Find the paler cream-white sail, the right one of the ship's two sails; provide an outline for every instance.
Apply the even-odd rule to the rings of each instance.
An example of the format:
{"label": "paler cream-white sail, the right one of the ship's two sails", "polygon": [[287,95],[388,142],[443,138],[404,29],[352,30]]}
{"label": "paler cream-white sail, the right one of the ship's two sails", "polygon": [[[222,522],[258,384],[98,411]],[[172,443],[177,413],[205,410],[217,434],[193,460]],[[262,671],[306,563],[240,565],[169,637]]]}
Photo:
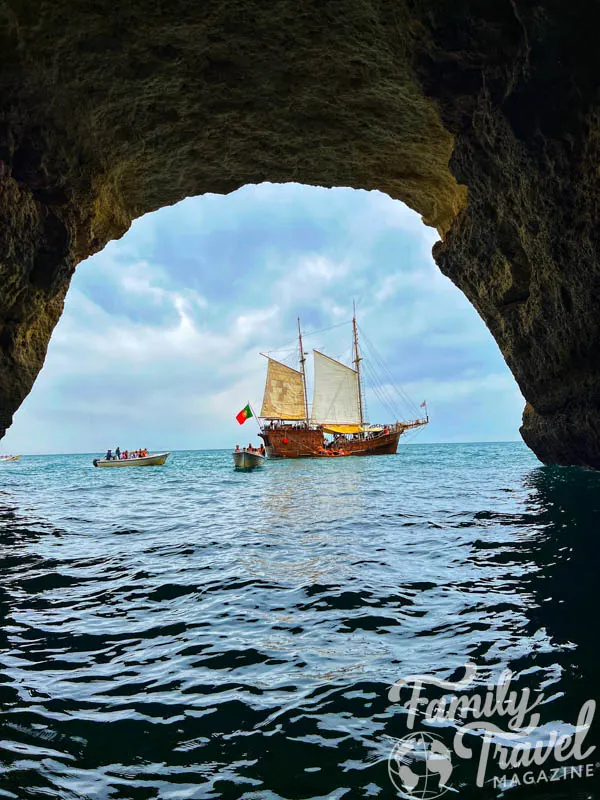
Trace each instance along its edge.
{"label": "paler cream-white sail, the right one of the ship's two sails", "polygon": [[312,422],[315,425],[360,425],[356,370],[314,350],[315,385]]}

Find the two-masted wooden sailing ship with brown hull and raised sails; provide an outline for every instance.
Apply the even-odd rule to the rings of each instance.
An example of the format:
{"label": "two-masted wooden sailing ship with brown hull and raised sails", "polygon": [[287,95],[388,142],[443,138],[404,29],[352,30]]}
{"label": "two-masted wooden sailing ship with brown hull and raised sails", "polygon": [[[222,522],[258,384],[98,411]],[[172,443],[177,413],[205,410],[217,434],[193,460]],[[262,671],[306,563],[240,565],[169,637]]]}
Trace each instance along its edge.
{"label": "two-masted wooden sailing ship with brown hull and raised sails", "polygon": [[[353,366],[313,350],[314,386],[309,413],[306,353],[298,319],[299,369],[266,355],[267,378],[258,423],[270,458],[389,455],[400,437],[429,422],[425,416],[369,424],[362,383],[356,311],[352,318]],[[264,354],[261,354],[264,355]],[[325,437],[333,437],[327,441]]]}

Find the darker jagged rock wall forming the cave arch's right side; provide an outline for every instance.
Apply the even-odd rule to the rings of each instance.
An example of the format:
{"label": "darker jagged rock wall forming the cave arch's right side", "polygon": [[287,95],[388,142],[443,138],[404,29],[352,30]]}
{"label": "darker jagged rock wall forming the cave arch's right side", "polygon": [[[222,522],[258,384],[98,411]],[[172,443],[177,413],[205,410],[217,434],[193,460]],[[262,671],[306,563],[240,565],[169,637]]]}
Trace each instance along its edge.
{"label": "darker jagged rock wall forming the cave arch's right side", "polygon": [[527,444],[599,468],[600,7],[513,0],[483,17],[468,0],[440,5],[428,4],[419,71],[469,201],[436,260],[528,401]]}

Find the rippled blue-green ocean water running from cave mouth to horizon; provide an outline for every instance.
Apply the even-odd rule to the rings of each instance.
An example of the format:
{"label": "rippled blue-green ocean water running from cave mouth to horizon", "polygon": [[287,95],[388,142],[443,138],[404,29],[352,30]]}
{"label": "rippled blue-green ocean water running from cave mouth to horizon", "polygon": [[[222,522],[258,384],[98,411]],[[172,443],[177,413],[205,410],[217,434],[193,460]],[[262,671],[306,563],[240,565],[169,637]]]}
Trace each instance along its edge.
{"label": "rippled blue-green ocean water running from cave mouth to horizon", "polygon": [[[600,474],[522,444],[250,473],[224,451],[91,458],[0,466],[0,798],[600,797],[595,719],[546,779],[490,756],[478,786],[481,727],[457,755],[468,714],[411,728],[410,692],[389,696],[472,663],[483,700],[508,669],[542,702],[496,741],[573,734],[599,694]],[[414,731],[450,752],[444,785],[423,760],[395,775]]]}

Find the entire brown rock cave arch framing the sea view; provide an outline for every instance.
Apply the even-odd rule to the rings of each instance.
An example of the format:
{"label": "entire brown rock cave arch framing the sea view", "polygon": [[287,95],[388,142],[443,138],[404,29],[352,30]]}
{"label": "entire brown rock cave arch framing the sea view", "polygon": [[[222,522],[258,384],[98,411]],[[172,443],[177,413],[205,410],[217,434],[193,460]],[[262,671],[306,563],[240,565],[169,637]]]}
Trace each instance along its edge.
{"label": "entire brown rock cave arch framing the sea view", "polygon": [[81,259],[161,205],[293,180],[377,188],[436,226],[527,398],[525,440],[600,466],[597,17],[0,0],[0,435]]}

